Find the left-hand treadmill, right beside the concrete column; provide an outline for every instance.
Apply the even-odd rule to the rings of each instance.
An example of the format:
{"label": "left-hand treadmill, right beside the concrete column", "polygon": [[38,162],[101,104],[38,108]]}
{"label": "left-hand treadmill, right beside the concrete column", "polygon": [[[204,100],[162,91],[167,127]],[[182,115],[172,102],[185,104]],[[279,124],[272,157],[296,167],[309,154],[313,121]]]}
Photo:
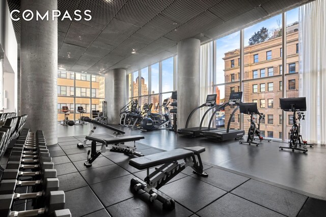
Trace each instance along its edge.
{"label": "left-hand treadmill, right beside the concrete column", "polygon": [[[211,95],[207,95],[206,98],[206,102],[204,104],[202,104],[201,106],[198,106],[197,108],[195,108],[188,116],[187,121],[185,123],[185,128],[182,129],[178,129],[178,133],[179,134],[183,134],[183,135],[187,135],[187,136],[192,136],[192,137],[198,137],[200,136],[200,133],[207,130],[208,127],[203,127],[203,122],[205,119],[206,114],[208,114],[208,112],[212,109],[214,109],[216,106],[216,94],[211,94]],[[188,128],[188,124],[189,121],[191,119],[191,117],[193,116],[193,114],[200,108],[203,107],[210,107],[209,109],[207,109],[207,111],[204,113],[201,121],[200,121],[200,125],[199,127],[194,127],[194,128]]]}

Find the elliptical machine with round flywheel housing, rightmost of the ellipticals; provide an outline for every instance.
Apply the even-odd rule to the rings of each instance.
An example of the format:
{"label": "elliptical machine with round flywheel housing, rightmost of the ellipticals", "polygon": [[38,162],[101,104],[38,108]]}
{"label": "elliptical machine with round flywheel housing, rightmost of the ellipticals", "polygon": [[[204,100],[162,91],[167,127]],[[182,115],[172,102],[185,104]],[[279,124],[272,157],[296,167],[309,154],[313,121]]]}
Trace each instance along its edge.
{"label": "elliptical machine with round flywheel housing, rightmost of the ellipticals", "polygon": [[[162,103],[162,108],[164,108],[164,114],[161,113],[151,113],[150,109],[147,111],[147,115],[141,121],[142,131],[152,131],[152,130],[166,130],[171,129],[171,116],[169,112],[168,99],[165,99]],[[158,105],[156,106],[156,110]]]}

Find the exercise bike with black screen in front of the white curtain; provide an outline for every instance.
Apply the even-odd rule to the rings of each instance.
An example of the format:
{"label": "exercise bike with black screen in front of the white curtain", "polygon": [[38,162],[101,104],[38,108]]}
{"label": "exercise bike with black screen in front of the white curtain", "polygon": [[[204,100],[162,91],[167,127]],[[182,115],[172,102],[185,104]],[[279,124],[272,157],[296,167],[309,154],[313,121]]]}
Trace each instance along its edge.
{"label": "exercise bike with black screen in front of the white curtain", "polygon": [[[302,139],[302,136],[300,135],[300,120],[305,119],[305,115],[302,111],[307,110],[306,98],[305,97],[280,98],[280,105],[281,105],[281,109],[283,109],[284,111],[293,112],[293,115],[292,115],[293,125],[290,130],[289,147],[279,146],[279,148],[281,150],[283,150],[284,148],[292,149],[292,151],[301,150],[304,153],[306,153],[308,151],[307,149],[297,147],[297,145],[299,145],[299,146],[303,145],[304,147],[306,147],[307,145],[312,147],[312,145],[313,145],[313,144],[308,144],[307,141],[304,141]],[[297,118],[296,118],[296,116],[297,116]]]}

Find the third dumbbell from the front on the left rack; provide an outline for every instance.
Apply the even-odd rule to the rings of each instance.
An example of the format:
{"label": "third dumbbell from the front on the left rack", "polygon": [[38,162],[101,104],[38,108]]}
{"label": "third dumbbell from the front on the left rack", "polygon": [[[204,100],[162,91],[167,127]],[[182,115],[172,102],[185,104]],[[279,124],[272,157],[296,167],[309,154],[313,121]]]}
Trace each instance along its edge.
{"label": "third dumbbell from the front on the left rack", "polygon": [[0,182],[0,195],[15,194],[17,187],[40,187],[39,190],[43,190],[45,195],[48,195],[50,191],[58,191],[59,179],[57,177],[43,177],[43,179],[35,181],[20,181],[16,179],[2,180]]}

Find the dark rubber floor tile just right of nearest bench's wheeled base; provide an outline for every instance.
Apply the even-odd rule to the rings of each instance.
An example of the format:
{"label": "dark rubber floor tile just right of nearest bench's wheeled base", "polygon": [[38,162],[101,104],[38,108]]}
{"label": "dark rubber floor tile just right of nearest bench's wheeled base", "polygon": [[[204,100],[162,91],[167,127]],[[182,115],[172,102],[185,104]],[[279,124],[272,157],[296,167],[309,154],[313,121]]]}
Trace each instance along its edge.
{"label": "dark rubber floor tile just right of nearest bench's wheeled base", "polygon": [[192,177],[185,177],[164,185],[159,191],[170,196],[193,212],[218,199],[227,192]]}

